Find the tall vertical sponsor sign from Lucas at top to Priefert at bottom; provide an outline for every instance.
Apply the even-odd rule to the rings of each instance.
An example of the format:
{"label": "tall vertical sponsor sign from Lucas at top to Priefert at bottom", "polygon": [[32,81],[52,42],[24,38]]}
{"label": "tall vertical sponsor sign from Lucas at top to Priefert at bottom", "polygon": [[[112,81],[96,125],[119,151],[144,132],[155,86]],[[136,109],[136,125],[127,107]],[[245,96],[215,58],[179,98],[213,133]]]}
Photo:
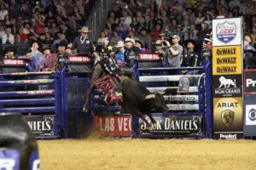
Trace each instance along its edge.
{"label": "tall vertical sponsor sign from Lucas at top to Priefert at bottom", "polygon": [[212,20],[213,131],[218,139],[238,139],[243,132],[241,20]]}

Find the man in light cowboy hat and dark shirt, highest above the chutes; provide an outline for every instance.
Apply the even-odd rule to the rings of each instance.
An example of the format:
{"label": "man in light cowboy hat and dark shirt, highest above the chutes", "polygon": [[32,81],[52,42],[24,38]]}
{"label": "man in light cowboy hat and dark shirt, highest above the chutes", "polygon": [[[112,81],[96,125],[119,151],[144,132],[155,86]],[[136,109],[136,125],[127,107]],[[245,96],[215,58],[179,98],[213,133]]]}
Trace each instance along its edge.
{"label": "man in light cowboy hat and dark shirt, highest above the chutes", "polygon": [[79,32],[81,33],[81,36],[74,39],[73,48],[77,48],[77,54],[92,54],[93,43],[88,39],[90,30],[87,26],[83,26]]}

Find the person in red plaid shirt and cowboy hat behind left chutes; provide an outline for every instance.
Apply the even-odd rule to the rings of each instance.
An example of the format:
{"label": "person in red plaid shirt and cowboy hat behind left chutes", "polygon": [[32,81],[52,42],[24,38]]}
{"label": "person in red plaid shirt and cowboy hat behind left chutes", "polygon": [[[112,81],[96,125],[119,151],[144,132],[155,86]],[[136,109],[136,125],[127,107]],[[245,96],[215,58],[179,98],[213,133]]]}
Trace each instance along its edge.
{"label": "person in red plaid shirt and cowboy hat behind left chutes", "polygon": [[42,50],[44,53],[42,71],[54,71],[56,55],[50,53],[50,48],[48,45],[44,45]]}

